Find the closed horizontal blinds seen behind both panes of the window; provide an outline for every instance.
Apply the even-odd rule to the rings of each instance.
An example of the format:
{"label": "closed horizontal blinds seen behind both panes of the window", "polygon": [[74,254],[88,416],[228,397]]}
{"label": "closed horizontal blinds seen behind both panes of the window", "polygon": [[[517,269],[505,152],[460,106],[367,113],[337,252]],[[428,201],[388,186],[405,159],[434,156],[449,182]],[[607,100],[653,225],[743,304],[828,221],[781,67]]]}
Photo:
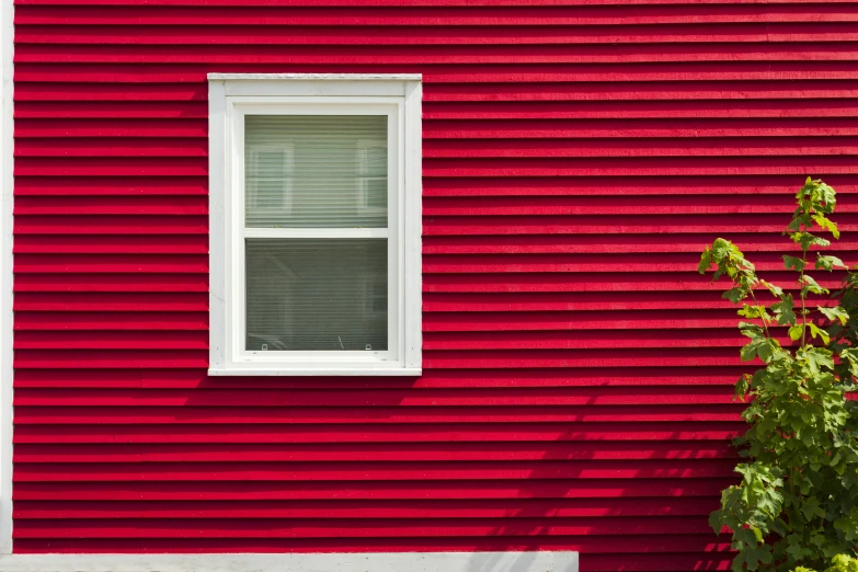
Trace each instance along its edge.
{"label": "closed horizontal blinds seen behind both panes of the window", "polygon": [[[331,238],[245,239],[245,348],[386,351],[385,115],[245,116],[245,228],[331,229]],[[334,230],[335,229],[335,230]]]}

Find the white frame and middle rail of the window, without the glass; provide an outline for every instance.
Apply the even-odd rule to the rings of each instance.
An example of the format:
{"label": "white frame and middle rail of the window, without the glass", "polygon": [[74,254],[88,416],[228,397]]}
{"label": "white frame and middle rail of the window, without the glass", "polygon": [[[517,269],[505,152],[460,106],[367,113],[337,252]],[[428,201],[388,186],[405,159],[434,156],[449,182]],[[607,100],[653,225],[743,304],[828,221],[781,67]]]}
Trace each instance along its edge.
{"label": "white frame and middle rail of the window, without the glass", "polygon": [[[209,370],[211,376],[416,376],[421,369],[419,75],[209,73]],[[387,228],[245,228],[244,116],[387,115]],[[245,350],[244,240],[386,238],[386,351]]]}

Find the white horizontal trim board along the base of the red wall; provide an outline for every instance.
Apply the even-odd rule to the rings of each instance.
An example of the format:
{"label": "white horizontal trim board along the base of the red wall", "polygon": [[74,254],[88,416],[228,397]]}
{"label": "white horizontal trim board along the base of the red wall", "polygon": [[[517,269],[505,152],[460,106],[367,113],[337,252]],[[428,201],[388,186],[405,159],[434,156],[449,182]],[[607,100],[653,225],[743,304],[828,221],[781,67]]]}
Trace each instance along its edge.
{"label": "white horizontal trim board along the base of the red wall", "polygon": [[3,572],[577,572],[577,552],[14,554]]}

